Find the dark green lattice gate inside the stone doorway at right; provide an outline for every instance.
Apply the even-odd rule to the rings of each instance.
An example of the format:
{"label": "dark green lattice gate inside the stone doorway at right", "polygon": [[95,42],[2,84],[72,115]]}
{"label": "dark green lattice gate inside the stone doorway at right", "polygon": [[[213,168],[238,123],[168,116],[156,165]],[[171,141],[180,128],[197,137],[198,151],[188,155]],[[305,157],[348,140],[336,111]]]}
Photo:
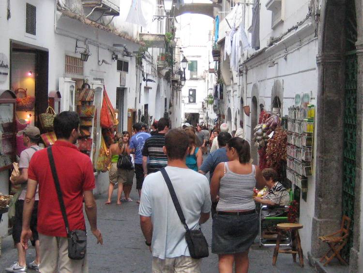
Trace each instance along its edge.
{"label": "dark green lattice gate inside the stone doorway at right", "polygon": [[343,194],[342,214],[351,220],[348,244],[342,250],[342,257],[349,261],[353,246],[356,134],[357,134],[357,75],[358,60],[355,42],[357,41],[357,22],[355,3],[349,0],[346,5],[346,56],[345,56],[345,109],[344,109],[344,150],[343,150]]}

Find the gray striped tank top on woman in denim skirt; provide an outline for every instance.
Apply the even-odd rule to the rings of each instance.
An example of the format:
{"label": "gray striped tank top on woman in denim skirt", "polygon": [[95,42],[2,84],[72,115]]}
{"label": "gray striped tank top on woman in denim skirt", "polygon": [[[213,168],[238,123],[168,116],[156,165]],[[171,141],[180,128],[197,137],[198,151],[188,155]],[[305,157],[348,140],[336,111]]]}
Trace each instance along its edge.
{"label": "gray striped tank top on woman in denim skirt", "polygon": [[252,165],[252,173],[240,175],[229,170],[225,162],[225,175],[219,184],[217,211],[256,209],[252,198],[255,186],[255,165]]}

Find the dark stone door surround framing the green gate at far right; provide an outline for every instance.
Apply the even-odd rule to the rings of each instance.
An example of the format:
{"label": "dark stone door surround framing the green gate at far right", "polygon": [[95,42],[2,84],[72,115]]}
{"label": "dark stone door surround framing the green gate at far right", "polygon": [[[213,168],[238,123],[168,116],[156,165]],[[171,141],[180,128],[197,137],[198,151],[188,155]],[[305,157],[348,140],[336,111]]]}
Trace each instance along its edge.
{"label": "dark stone door surround framing the green gate at far right", "polygon": [[[351,2],[353,1],[353,2]],[[318,96],[317,96],[317,154],[315,213],[312,226],[312,255],[321,257],[326,246],[319,243],[321,234],[340,228],[342,220],[345,62],[346,62],[346,8],[354,0],[325,0],[321,3],[321,27],[318,41]],[[350,4],[350,5],[349,5]],[[356,54],[358,75],[363,70],[362,4],[355,0],[357,25]],[[352,19],[350,17],[350,19]],[[354,19],[353,19],[354,20]],[[362,104],[363,79],[357,78],[357,129],[355,164],[354,237],[350,250],[350,272],[358,269],[360,250],[361,191],[362,191]],[[334,114],[332,114],[334,109]],[[340,118],[336,118],[336,117]],[[332,148],[333,147],[333,148]],[[334,202],[332,202],[332,196]]]}

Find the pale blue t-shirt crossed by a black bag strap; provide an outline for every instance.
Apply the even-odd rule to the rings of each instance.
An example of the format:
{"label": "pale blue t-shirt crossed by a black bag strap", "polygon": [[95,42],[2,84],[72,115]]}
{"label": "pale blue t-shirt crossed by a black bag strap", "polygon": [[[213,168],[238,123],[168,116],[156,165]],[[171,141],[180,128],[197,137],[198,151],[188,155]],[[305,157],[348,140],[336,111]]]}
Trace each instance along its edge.
{"label": "pale blue t-shirt crossed by a black bag strap", "polygon": [[[167,166],[166,172],[173,184],[189,229],[199,228],[200,213],[211,211],[208,179],[191,170]],[[139,215],[151,217],[152,256],[160,259],[190,256],[181,224],[169,190],[161,172],[145,177]]]}

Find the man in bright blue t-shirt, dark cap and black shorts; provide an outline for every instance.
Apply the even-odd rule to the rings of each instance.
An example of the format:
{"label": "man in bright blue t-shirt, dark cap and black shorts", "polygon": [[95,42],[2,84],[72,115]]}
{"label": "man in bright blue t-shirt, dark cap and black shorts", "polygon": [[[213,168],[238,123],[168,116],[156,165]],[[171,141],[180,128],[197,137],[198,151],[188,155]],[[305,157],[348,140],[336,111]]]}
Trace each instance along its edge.
{"label": "man in bright blue t-shirt, dark cap and black shorts", "polygon": [[[135,135],[130,140],[130,150],[135,153],[135,175],[136,175],[136,189],[138,195],[141,196],[142,183],[144,182],[144,171],[142,169],[142,149],[144,148],[145,141],[151,137],[151,134],[143,132],[142,124],[135,123],[132,127]],[[139,201],[137,201],[139,203]]]}

